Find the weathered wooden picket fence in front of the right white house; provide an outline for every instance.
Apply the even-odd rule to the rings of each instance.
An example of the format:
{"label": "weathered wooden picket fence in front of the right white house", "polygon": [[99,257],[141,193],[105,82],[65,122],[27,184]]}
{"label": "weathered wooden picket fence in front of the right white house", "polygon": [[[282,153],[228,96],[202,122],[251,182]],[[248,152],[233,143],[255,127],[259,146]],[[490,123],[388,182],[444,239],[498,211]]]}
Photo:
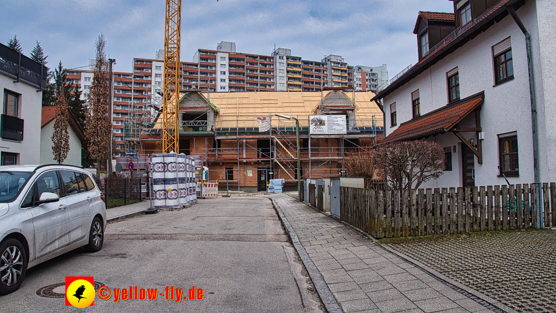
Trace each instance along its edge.
{"label": "weathered wooden picket fence in front of the right white house", "polygon": [[[537,225],[538,199],[544,225]],[[375,238],[550,227],[556,226],[556,184],[460,187],[457,192],[340,187],[340,219]]]}

